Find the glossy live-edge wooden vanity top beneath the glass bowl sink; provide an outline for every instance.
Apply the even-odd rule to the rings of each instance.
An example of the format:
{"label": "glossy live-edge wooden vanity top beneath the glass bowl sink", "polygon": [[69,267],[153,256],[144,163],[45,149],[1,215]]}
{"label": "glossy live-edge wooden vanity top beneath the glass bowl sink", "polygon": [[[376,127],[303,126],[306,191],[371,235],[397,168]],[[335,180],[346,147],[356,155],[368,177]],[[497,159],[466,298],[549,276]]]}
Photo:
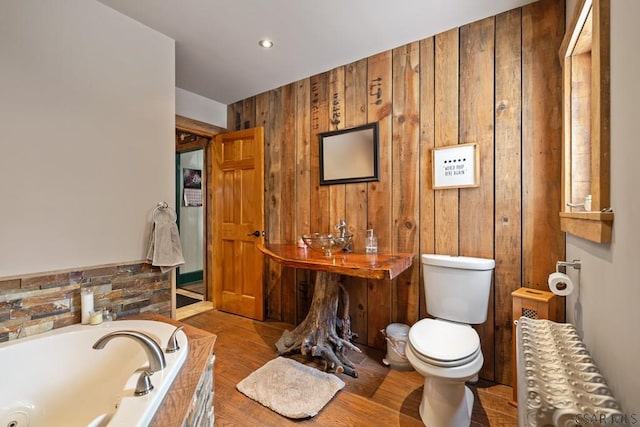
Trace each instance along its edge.
{"label": "glossy live-edge wooden vanity top beneath the glass bowl sink", "polygon": [[393,279],[411,267],[413,254],[336,252],[332,256],[294,244],[258,245],[265,255],[287,267],[327,271],[365,279]]}

